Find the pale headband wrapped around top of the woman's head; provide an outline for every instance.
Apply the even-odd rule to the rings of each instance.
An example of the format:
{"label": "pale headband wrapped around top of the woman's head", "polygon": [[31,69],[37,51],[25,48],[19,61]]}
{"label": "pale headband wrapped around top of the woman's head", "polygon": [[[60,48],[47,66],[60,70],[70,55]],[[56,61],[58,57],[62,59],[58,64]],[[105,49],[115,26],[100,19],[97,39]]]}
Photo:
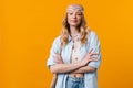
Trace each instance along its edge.
{"label": "pale headband wrapped around top of the woman's head", "polygon": [[80,6],[80,4],[71,4],[66,8],[66,12],[70,12],[70,11],[73,11],[73,10],[78,10],[82,13],[84,12],[83,7]]}

